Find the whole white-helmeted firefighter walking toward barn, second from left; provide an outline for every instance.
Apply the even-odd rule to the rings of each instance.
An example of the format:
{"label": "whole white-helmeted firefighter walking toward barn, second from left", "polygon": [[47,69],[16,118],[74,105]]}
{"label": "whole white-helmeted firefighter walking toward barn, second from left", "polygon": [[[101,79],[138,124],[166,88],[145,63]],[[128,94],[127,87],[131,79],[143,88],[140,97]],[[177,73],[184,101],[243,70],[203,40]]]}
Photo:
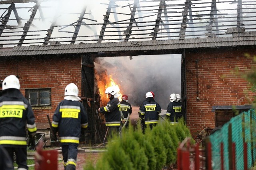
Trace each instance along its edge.
{"label": "whole white-helmeted firefighter walking toward barn, second from left", "polygon": [[79,102],[81,99],[78,97],[76,84],[68,84],[64,95],[64,100],[58,104],[53,115],[52,139],[57,141],[58,131],[64,170],[75,170],[81,128],[87,128],[88,116],[83,104]]}

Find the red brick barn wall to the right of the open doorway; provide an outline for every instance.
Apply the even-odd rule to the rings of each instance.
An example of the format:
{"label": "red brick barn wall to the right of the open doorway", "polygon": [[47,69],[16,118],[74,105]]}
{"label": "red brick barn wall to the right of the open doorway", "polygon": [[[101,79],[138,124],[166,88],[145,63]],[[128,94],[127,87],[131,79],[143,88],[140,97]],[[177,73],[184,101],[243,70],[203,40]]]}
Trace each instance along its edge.
{"label": "red brick barn wall to the right of the open doorway", "polygon": [[212,106],[251,104],[255,94],[249,90],[250,84],[234,73],[235,68],[243,74],[255,66],[245,53],[256,55],[254,49],[186,51],[187,125],[193,135],[204,127],[215,127]]}

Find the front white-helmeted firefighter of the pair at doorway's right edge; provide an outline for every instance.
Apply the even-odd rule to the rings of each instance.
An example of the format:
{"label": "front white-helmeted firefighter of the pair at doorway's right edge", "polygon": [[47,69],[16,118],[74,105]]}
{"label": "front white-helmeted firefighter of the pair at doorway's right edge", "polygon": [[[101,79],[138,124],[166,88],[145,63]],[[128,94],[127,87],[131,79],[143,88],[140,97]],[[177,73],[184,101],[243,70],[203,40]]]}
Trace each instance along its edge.
{"label": "front white-helmeted firefighter of the pair at doorway's right edge", "polygon": [[170,95],[170,103],[167,106],[166,119],[168,119],[172,125],[178,122],[178,119],[182,117],[182,105],[176,101],[176,94]]}

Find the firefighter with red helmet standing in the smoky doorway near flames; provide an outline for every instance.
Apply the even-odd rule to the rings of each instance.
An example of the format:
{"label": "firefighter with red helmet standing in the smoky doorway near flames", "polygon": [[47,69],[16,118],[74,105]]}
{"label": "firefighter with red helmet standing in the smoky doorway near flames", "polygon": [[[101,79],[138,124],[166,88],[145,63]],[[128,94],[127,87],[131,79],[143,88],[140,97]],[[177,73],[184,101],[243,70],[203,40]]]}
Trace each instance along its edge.
{"label": "firefighter with red helmet standing in the smoky doorway near flames", "polygon": [[127,120],[128,114],[132,114],[132,105],[130,103],[128,103],[128,96],[127,95],[123,95],[122,96],[122,101],[120,102],[120,107],[119,110],[122,111],[123,115],[124,115],[124,122],[128,121],[125,125],[125,127],[129,126],[129,119]]}

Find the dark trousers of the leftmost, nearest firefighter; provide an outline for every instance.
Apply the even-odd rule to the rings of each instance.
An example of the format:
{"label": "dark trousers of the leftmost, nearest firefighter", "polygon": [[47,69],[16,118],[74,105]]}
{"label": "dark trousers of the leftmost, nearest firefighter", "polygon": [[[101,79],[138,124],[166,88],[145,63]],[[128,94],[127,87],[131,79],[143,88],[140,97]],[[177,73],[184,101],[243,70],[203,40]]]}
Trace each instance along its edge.
{"label": "dark trousers of the leftmost, nearest firefighter", "polygon": [[28,170],[27,166],[27,148],[26,147],[4,147],[10,158],[13,160],[14,153],[16,155],[16,163],[18,164],[18,169]]}

